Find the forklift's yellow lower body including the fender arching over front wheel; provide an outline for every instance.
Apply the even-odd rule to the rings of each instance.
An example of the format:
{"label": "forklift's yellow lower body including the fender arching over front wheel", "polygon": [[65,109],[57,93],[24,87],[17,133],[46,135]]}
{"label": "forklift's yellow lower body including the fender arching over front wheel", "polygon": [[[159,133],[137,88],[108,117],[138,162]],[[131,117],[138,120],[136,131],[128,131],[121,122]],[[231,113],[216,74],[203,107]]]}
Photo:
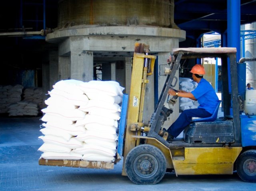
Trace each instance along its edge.
{"label": "forklift's yellow lower body including the fender arching over front wheel", "polygon": [[234,162],[242,151],[242,147],[168,148],[156,138],[132,137],[160,149],[166,168],[174,169],[176,175],[233,174]]}

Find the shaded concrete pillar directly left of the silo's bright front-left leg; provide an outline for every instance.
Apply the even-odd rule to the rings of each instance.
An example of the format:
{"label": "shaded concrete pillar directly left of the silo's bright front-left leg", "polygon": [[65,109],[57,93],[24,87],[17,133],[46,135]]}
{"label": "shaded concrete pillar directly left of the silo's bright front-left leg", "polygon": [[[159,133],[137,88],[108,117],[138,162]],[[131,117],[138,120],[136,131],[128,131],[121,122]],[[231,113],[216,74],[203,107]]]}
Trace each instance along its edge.
{"label": "shaded concrete pillar directly left of the silo's bright front-left leg", "polygon": [[70,56],[59,56],[58,78],[60,80],[71,79],[71,59]]}

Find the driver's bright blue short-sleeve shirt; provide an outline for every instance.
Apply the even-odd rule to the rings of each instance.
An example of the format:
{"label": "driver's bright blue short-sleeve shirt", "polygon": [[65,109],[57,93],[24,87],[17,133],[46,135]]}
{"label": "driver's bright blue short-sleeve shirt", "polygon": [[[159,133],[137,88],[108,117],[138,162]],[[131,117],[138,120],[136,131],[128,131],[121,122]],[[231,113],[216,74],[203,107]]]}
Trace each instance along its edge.
{"label": "driver's bright blue short-sleeve shirt", "polygon": [[219,98],[216,95],[212,85],[207,80],[202,78],[196,89],[191,93],[198,100],[198,108],[203,108],[211,114],[214,112]]}

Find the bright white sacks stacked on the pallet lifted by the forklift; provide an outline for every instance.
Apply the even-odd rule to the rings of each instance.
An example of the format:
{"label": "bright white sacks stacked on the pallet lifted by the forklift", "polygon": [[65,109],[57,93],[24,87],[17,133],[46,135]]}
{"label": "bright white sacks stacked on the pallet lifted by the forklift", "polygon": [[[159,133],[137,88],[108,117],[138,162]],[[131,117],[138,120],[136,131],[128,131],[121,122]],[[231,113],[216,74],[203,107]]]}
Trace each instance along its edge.
{"label": "bright white sacks stacked on the pallet lifted by the forklift", "polygon": [[123,87],[114,81],[59,81],[42,117],[44,159],[113,161]]}

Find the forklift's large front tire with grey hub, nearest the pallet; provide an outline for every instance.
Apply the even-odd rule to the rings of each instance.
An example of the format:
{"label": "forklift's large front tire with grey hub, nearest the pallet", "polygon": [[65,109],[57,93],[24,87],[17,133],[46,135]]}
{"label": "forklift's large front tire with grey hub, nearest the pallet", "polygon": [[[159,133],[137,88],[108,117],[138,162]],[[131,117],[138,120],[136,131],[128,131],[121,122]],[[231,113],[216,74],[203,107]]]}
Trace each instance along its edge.
{"label": "forklift's large front tire with grey hub, nearest the pallet", "polygon": [[125,170],[129,179],[135,184],[156,184],[164,177],[166,159],[157,147],[142,144],[128,153]]}

